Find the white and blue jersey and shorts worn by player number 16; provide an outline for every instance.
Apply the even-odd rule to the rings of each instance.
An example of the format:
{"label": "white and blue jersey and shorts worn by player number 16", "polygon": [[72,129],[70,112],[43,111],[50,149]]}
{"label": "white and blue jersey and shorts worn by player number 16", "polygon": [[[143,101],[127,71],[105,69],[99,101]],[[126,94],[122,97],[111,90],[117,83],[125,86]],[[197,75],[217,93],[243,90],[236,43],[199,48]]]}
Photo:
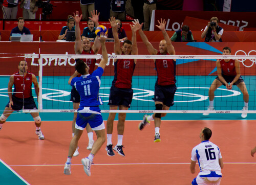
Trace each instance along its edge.
{"label": "white and blue jersey and shorts worn by player number 16", "polygon": [[194,147],[191,153],[191,160],[198,160],[200,172],[192,181],[192,184],[220,184],[222,178],[219,165],[220,158],[222,156],[219,147],[208,140]]}

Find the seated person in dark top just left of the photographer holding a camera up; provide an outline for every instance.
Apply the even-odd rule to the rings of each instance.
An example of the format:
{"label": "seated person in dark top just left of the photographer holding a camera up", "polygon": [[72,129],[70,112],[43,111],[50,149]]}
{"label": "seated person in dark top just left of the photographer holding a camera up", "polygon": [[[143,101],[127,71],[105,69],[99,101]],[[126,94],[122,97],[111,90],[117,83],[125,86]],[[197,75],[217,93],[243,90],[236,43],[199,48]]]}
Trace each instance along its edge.
{"label": "seated person in dark top just left of the photographer holding a camera up", "polygon": [[172,38],[170,38],[172,42],[187,42],[194,40],[192,32],[189,31],[189,27],[184,25],[181,30],[178,30],[174,33]]}

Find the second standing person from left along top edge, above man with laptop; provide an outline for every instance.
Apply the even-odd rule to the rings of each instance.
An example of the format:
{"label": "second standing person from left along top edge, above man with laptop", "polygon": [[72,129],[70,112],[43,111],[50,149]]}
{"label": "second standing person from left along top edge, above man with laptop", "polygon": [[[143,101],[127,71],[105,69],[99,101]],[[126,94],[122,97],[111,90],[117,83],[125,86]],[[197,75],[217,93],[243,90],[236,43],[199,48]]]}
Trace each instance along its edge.
{"label": "second standing person from left along top edge, above man with laptop", "polygon": [[22,0],[20,8],[23,8],[23,17],[25,19],[35,19],[35,13],[38,7],[35,6],[36,0]]}

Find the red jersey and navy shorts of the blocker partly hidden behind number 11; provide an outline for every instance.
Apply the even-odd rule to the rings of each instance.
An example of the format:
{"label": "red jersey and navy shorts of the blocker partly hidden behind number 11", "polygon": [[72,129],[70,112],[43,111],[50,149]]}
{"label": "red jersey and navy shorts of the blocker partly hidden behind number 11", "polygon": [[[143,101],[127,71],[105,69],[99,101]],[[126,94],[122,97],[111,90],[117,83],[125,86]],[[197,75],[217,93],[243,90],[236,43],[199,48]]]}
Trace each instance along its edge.
{"label": "red jersey and navy shorts of the blocker partly hidden behind number 11", "polygon": [[[92,49],[90,49],[89,52],[85,52],[83,50],[81,55],[94,55],[94,51]],[[92,74],[94,72],[96,59],[94,59],[94,58],[84,58],[84,59],[81,59],[81,60],[83,62],[86,62],[86,64],[89,66],[89,74]],[[73,86],[71,88],[70,101],[72,101],[74,103],[79,103],[80,102],[80,95],[77,92],[77,90],[75,89],[75,87],[73,87]]]}

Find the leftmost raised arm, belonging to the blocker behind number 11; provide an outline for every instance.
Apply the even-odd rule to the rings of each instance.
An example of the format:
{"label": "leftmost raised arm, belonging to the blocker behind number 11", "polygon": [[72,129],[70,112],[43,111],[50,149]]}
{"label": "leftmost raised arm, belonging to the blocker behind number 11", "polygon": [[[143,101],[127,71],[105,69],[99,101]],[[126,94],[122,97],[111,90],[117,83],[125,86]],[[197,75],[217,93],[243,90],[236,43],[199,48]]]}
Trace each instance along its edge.
{"label": "leftmost raised arm, belonging to the blocker behind number 11", "polygon": [[74,16],[72,16],[75,21],[76,21],[76,26],[75,26],[75,35],[76,35],[76,41],[75,41],[75,53],[76,54],[81,54],[82,53],[82,41],[81,41],[81,31],[80,31],[80,20],[82,18],[82,14],[79,17],[79,12],[76,11],[76,14],[74,13]]}

